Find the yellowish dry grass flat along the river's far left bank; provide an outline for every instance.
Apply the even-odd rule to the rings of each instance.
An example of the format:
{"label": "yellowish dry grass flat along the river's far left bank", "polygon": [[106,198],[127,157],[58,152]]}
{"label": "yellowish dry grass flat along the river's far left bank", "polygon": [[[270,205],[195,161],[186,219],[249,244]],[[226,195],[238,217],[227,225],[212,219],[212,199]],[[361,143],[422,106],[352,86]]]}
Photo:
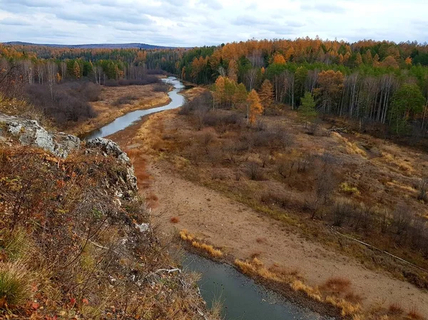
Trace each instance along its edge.
{"label": "yellowish dry grass flat along the river's far left bank", "polygon": [[[68,133],[73,135],[88,133],[111,123],[114,119],[133,110],[156,108],[170,101],[167,93],[156,92],[153,90],[153,87],[154,85],[152,84],[146,86],[103,87],[101,99],[91,103],[98,113],[96,118],[88,119],[83,123],[73,126],[73,128],[68,130]],[[127,96],[132,96],[135,99],[130,104],[114,105],[118,98]]]}

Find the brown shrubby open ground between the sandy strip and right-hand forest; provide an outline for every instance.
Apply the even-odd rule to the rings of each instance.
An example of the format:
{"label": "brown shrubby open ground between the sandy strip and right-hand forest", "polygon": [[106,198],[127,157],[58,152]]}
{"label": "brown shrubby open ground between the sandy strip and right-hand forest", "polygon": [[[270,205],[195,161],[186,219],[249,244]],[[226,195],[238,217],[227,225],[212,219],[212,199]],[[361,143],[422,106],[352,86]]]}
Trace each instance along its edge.
{"label": "brown shrubby open ground between the sandy strip and right-hand forest", "polygon": [[243,110],[213,110],[208,91],[156,128],[149,146],[180,175],[427,289],[426,153],[305,128],[293,110],[248,125]]}

